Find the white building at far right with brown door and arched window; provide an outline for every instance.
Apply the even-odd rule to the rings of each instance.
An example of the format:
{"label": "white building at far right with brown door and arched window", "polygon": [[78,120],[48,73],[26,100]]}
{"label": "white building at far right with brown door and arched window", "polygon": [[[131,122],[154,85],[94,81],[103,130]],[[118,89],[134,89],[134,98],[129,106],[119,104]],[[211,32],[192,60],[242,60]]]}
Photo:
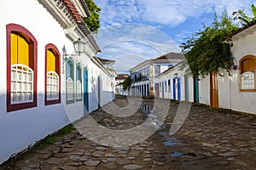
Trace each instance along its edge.
{"label": "white building at far right with brown door and arched window", "polygon": [[256,114],[256,22],[229,37],[235,66],[201,79],[200,102],[213,107]]}

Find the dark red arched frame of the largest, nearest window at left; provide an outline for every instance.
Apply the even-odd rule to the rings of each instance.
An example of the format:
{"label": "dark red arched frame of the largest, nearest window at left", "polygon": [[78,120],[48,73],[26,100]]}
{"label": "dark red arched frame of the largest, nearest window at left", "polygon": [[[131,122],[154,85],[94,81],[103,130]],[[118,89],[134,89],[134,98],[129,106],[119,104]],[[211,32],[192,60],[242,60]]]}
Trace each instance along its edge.
{"label": "dark red arched frame of the largest, nearest window at left", "polygon": [[[16,32],[26,38],[29,43],[29,65],[34,71],[33,76],[33,101],[11,104],[11,33]],[[25,27],[17,24],[9,24],[6,26],[6,48],[7,48],[7,111],[18,111],[22,109],[36,107],[38,105],[38,41]]]}

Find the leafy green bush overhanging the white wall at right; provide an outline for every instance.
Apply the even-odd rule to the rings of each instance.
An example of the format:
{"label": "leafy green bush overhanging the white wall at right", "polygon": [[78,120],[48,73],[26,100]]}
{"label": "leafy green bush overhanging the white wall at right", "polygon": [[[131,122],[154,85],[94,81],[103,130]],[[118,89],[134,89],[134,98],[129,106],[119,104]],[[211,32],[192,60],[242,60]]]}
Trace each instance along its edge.
{"label": "leafy green bush overhanging the white wall at right", "polygon": [[215,14],[212,24],[203,26],[204,31],[195,32],[180,46],[187,60],[183,68],[189,68],[193,76],[207,75],[212,71],[218,71],[218,68],[230,71],[233,58],[230,44],[224,41],[238,27],[226,12],[221,15],[220,20]]}

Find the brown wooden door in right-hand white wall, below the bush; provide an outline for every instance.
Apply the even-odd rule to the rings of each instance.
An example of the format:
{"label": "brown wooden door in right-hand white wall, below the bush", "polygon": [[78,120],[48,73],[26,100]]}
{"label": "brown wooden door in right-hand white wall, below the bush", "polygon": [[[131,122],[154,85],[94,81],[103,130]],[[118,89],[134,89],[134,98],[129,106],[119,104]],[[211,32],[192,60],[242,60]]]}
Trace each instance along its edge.
{"label": "brown wooden door in right-hand white wall, below the bush", "polygon": [[210,105],[218,107],[218,71],[210,74]]}

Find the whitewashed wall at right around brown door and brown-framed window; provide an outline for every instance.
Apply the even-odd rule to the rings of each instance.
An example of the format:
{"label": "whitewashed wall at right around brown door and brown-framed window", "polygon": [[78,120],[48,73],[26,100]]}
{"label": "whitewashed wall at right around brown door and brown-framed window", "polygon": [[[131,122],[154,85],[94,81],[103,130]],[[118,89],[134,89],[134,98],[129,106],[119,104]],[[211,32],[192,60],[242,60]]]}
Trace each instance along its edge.
{"label": "whitewashed wall at right around brown door and brown-framed window", "polygon": [[[249,54],[256,55],[255,39],[256,32],[253,32],[253,34],[233,41],[231,52],[238,69],[230,71],[230,76],[226,71],[220,71],[224,77],[218,76],[219,107],[256,114],[256,93],[239,92],[239,60]],[[210,105],[209,76],[203,78],[200,83],[200,103]]]}

